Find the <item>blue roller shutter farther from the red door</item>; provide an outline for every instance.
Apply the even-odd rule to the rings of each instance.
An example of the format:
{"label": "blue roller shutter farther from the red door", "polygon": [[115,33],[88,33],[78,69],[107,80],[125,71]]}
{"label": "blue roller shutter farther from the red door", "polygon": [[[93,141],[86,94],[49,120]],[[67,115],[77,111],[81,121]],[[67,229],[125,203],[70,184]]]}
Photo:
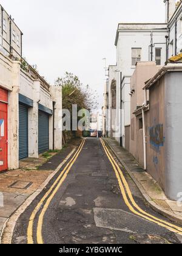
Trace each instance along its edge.
{"label": "blue roller shutter farther from the red door", "polygon": [[39,110],[39,154],[49,150],[49,115]]}

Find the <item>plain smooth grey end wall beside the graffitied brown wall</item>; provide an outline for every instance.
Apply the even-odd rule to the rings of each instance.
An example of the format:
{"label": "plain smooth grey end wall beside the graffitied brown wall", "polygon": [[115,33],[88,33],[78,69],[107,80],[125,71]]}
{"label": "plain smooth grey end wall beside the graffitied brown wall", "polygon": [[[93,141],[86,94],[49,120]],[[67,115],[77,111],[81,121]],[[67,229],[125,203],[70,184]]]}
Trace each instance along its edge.
{"label": "plain smooth grey end wall beside the graffitied brown wall", "polygon": [[166,194],[172,200],[180,199],[182,192],[182,72],[165,77],[165,162]]}

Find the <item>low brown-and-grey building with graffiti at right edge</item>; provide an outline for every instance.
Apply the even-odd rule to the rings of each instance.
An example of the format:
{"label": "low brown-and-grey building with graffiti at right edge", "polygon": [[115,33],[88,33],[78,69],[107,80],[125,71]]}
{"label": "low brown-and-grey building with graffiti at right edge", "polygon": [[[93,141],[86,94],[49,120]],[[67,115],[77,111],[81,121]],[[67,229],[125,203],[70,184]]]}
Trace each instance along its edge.
{"label": "low brown-and-grey building with graffiti at right edge", "polygon": [[181,79],[181,63],[167,64],[144,87],[149,91],[144,112],[147,171],[172,200],[179,199],[182,184]]}

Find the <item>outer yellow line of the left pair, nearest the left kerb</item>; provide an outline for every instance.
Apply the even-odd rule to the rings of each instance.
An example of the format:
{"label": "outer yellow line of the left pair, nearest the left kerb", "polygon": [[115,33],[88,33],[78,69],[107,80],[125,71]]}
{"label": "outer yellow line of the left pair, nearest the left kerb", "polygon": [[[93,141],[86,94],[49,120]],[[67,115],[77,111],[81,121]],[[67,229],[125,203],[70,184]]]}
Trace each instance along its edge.
{"label": "outer yellow line of the left pair, nearest the left kerb", "polygon": [[[52,187],[50,187],[50,189],[47,191],[47,193],[45,193],[45,195],[42,197],[41,201],[39,201],[38,205],[36,205],[35,209],[33,210],[32,215],[30,216],[30,219],[29,219],[29,225],[28,225],[28,229],[27,229],[27,243],[28,244],[33,244],[33,224],[34,224],[34,219],[35,219],[36,214],[38,213],[38,211],[41,208],[42,204],[44,204],[45,199],[47,199],[49,194],[52,192],[53,188],[56,186],[56,184],[59,182],[59,180],[63,176],[63,174],[66,171],[66,169],[69,166],[69,164],[76,157],[76,154],[77,154],[77,152],[79,152],[79,149],[81,148],[81,146],[83,146],[84,141],[85,141],[85,139],[81,142],[81,144],[80,144],[78,150],[76,151],[75,155],[72,157],[72,159],[69,161],[69,163],[67,163],[66,167],[61,172],[61,174],[59,174],[58,178],[55,180],[55,182],[53,183]],[[70,152],[70,154],[62,162],[62,165],[64,165],[64,163],[66,163],[67,160],[69,160],[69,158],[73,155],[74,152],[75,151]]]}

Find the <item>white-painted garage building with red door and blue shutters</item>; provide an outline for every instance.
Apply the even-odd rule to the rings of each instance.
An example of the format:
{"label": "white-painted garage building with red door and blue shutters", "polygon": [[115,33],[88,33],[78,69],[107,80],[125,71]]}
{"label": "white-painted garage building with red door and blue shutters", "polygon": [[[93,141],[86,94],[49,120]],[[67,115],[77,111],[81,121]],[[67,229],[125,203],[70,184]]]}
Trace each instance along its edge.
{"label": "white-painted garage building with red door and blue shutters", "polygon": [[[6,24],[3,37],[11,38],[14,28],[18,47],[21,31],[9,24],[10,16],[2,9],[1,18]],[[0,171],[18,168],[22,158],[62,148],[61,88],[51,87],[32,66],[23,65],[21,44],[14,44],[11,51],[4,43],[0,49]]]}

